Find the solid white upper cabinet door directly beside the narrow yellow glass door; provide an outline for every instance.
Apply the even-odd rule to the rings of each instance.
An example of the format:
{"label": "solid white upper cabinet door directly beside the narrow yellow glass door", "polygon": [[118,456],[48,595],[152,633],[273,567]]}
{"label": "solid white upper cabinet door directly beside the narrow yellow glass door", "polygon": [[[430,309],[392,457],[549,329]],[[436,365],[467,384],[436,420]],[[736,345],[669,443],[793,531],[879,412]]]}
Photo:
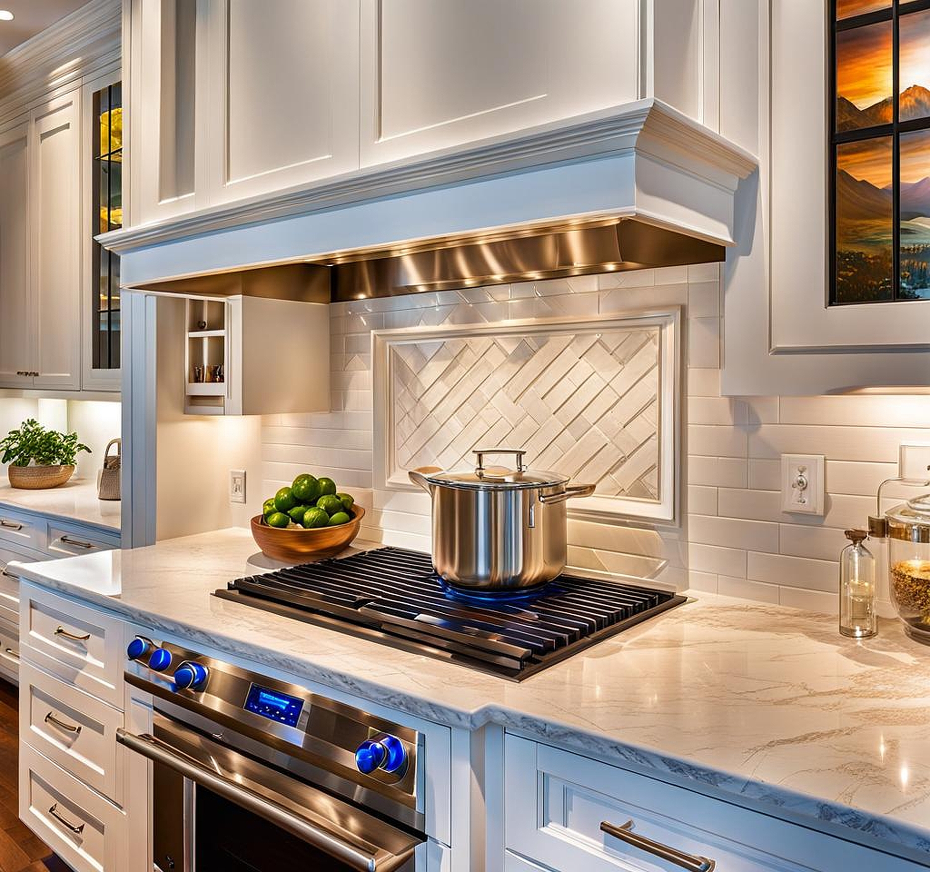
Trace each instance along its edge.
{"label": "solid white upper cabinet door directly beside the narrow yellow glass door", "polygon": [[80,90],[32,113],[33,313],[37,388],[81,386]]}

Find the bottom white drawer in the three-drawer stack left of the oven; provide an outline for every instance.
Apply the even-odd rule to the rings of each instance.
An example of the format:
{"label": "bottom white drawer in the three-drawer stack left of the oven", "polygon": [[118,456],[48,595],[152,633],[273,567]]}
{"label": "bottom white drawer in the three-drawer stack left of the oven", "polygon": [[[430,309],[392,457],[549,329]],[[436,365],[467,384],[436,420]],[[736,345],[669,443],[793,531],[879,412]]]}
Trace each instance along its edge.
{"label": "bottom white drawer in the three-drawer stack left of the oven", "polygon": [[126,868],[126,817],[113,803],[20,744],[20,819],[74,872]]}

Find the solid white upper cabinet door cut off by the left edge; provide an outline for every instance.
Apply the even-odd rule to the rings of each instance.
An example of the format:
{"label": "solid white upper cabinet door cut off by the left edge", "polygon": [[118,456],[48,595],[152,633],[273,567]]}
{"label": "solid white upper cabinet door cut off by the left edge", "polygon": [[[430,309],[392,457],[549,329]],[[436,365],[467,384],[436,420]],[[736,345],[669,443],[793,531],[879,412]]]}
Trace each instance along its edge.
{"label": "solid white upper cabinet door cut off by the left edge", "polygon": [[0,385],[31,387],[29,125],[0,133]]}

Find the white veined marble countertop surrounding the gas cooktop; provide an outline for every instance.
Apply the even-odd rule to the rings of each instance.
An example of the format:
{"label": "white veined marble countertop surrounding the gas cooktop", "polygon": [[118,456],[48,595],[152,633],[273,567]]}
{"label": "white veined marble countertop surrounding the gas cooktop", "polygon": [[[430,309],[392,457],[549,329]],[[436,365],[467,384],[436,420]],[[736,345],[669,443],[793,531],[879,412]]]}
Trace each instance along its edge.
{"label": "white veined marble countertop surrounding the gas cooktop", "polygon": [[220,530],[17,571],[422,718],[498,722],[857,840],[930,852],[930,649],[897,622],[856,642],[834,618],[700,594],[517,684],[210,597],[256,571],[246,564],[255,551],[247,530]]}

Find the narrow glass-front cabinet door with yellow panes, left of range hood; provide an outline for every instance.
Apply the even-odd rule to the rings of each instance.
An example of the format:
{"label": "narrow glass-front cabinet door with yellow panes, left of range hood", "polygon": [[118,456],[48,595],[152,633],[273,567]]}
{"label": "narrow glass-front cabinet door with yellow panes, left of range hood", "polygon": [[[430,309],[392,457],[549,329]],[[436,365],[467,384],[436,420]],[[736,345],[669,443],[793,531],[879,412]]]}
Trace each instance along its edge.
{"label": "narrow glass-front cabinet door with yellow panes, left of range hood", "polygon": [[123,226],[123,89],[119,72],[85,87],[85,390],[120,388],[119,256],[96,236]]}

